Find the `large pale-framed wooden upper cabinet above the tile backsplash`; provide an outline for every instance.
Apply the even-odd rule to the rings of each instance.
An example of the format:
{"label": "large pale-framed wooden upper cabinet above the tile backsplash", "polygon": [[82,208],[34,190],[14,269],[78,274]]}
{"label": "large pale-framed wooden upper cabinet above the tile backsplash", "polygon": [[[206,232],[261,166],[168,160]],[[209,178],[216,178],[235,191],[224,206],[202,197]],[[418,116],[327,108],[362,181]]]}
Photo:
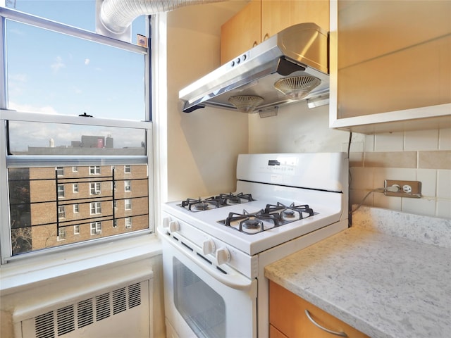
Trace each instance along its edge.
{"label": "large pale-framed wooden upper cabinet above the tile backsplash", "polygon": [[332,124],[387,123],[367,128],[381,132],[451,125],[451,1],[339,0],[331,6]]}

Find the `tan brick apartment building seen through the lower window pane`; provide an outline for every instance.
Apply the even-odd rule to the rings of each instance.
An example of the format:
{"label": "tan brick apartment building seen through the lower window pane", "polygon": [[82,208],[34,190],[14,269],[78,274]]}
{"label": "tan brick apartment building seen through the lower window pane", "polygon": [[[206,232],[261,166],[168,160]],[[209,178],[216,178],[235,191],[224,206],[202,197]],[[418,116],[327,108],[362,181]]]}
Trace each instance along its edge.
{"label": "tan brick apartment building seen through the lower window pane", "polygon": [[149,227],[147,165],[13,168],[9,176],[13,254]]}

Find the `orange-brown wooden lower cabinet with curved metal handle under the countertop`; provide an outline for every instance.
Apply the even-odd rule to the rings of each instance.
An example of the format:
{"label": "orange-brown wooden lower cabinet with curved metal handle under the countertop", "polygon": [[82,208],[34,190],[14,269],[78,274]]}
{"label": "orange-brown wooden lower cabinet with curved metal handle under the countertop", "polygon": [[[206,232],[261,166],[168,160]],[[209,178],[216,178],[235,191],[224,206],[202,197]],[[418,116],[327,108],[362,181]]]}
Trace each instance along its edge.
{"label": "orange-brown wooden lower cabinet with curved metal handle under the countertop", "polygon": [[349,338],[369,338],[338,318],[281,287],[269,283],[270,338],[331,338],[339,337],[322,330],[307,318],[306,310],[317,324],[333,332],[345,332]]}

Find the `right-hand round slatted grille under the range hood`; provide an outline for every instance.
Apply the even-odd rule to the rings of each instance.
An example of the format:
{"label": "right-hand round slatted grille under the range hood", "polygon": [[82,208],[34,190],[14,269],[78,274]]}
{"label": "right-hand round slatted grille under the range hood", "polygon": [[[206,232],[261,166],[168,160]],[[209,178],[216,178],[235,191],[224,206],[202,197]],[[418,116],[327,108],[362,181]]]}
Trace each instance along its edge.
{"label": "right-hand round slatted grille under the range hood", "polygon": [[318,87],[321,83],[318,77],[314,76],[292,76],[285,77],[274,83],[274,88],[282,92],[290,99],[299,100]]}

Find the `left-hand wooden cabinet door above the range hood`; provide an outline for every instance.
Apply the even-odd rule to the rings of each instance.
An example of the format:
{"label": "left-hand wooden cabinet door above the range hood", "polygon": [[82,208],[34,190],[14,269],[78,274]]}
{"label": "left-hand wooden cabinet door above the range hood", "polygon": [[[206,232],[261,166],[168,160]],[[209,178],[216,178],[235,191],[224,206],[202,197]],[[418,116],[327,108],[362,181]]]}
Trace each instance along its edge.
{"label": "left-hand wooden cabinet door above the range hood", "polygon": [[260,43],[260,17],[260,0],[252,0],[221,26],[221,65]]}

